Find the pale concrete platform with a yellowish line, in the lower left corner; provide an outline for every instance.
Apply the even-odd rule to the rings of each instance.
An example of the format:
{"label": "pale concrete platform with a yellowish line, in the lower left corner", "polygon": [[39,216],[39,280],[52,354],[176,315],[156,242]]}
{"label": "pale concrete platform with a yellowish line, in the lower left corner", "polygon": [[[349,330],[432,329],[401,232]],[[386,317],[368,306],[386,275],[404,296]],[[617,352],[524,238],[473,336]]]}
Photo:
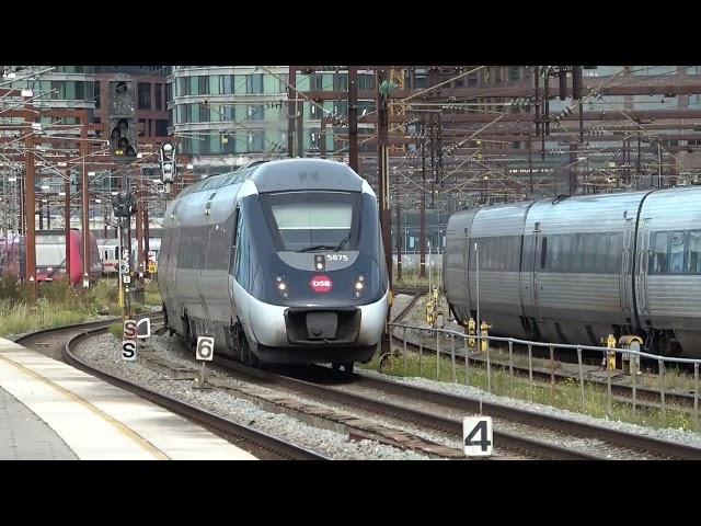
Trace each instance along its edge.
{"label": "pale concrete platform with a yellowish line, in the lower left corner", "polygon": [[0,339],[0,459],[255,459],[163,408]]}

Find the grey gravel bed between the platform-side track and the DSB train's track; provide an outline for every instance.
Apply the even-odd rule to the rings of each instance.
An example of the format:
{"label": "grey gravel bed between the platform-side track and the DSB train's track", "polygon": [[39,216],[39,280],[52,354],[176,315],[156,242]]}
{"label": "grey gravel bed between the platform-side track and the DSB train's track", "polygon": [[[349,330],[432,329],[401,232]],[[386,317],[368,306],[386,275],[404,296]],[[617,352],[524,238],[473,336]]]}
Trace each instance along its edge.
{"label": "grey gravel bed between the platform-side track and the DSB train's track", "polygon": [[[151,343],[152,350],[158,355],[192,367],[193,362],[182,357],[174,348],[176,347],[174,339],[154,336],[151,339]],[[374,441],[352,442],[345,434],[314,427],[285,414],[263,411],[254,403],[237,398],[225,390],[202,391],[193,389],[195,385],[193,381],[172,380],[145,367],[139,361],[124,362],[120,357],[118,341],[111,334],[91,339],[89,347],[87,345],[80,346],[79,354],[108,374],[148,386],[158,392],[203,407],[237,423],[285,438],[334,459],[423,460],[432,458]],[[222,375],[216,376],[223,377]]]}

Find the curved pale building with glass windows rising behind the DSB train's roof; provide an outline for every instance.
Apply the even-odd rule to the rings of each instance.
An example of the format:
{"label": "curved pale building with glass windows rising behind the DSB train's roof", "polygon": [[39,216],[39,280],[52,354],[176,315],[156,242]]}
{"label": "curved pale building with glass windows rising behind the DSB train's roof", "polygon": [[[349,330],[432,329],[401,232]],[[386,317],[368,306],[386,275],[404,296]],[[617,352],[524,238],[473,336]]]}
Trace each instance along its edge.
{"label": "curved pale building with glass windows rising behind the DSB train's roof", "polygon": [[[288,66],[173,66],[169,77],[171,127],[181,139],[181,152],[198,165],[238,165],[260,158],[287,156]],[[297,73],[296,88],[306,91],[346,91],[346,71]],[[374,72],[358,75],[358,90],[375,89]],[[375,108],[359,101],[359,113]],[[302,149],[319,153],[321,140],[335,148],[331,126],[324,139],[321,117],[347,115],[345,101],[324,101],[321,107],[302,104]],[[214,173],[214,172],[212,172]]]}

